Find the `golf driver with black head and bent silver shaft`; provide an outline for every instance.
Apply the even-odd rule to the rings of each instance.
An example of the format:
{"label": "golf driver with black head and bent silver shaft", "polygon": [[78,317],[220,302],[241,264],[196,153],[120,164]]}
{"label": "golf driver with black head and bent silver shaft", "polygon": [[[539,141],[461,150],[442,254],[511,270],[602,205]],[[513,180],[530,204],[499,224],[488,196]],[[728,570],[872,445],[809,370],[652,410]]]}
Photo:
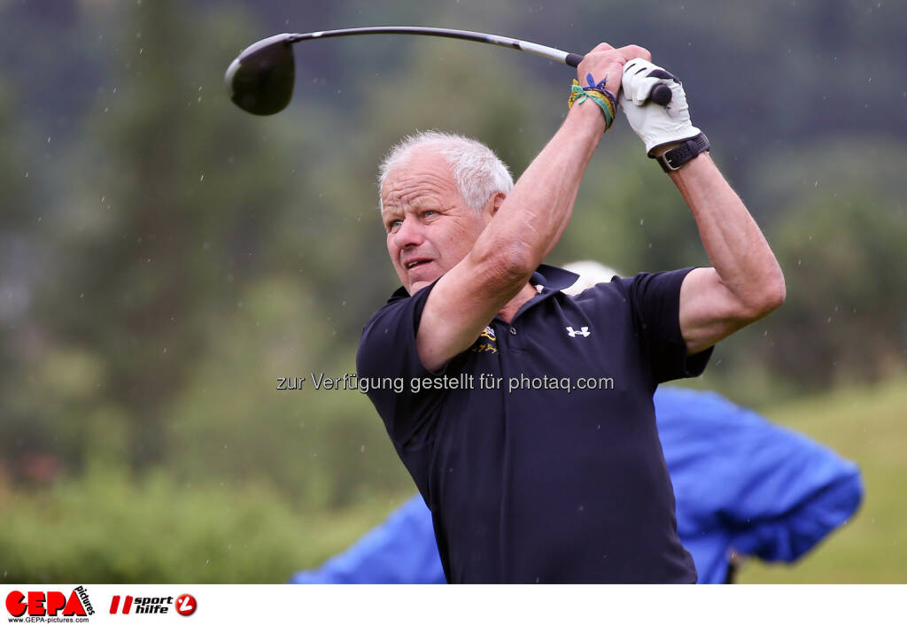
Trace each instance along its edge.
{"label": "golf driver with black head and bent silver shaft", "polygon": [[[224,80],[227,83],[230,100],[243,111],[256,115],[273,115],[283,111],[293,97],[293,83],[296,76],[292,44],[309,39],[342,37],[351,34],[427,34],[435,37],[477,41],[482,44],[502,45],[522,50],[522,52],[538,54],[551,61],[567,63],[571,67],[576,67],[582,61],[582,54],[564,52],[547,45],[502,37],[499,34],[473,33],[473,31],[446,28],[367,26],[315,33],[284,33],[275,34],[249,45],[233,60],[233,63],[229,64]],[[666,84],[657,84],[652,89],[649,100],[665,106],[671,100],[670,87]]]}

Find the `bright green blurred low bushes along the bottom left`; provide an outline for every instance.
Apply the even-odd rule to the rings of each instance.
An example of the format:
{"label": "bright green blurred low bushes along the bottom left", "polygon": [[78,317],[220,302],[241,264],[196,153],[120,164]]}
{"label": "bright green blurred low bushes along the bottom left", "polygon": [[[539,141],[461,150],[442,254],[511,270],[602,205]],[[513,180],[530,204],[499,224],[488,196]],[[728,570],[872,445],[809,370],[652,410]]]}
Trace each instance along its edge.
{"label": "bright green blurred low bushes along the bottom left", "polygon": [[266,482],[90,472],[46,492],[0,493],[0,574],[32,584],[281,583],[346,548],[394,503],[327,516],[298,512]]}

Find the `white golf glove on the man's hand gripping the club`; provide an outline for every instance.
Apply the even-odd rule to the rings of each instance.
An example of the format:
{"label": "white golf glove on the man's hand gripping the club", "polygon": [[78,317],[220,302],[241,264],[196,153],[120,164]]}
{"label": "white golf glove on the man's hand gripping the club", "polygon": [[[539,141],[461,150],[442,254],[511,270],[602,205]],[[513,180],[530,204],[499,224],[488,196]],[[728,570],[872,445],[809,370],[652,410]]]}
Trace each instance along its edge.
{"label": "white golf glove on the man's hand gripping the club", "polygon": [[[649,102],[649,94],[657,84],[667,84],[671,89],[667,106]],[[618,102],[649,154],[659,145],[692,139],[699,134],[699,129],[690,122],[687,95],[680,81],[644,59],[630,59],[624,65]]]}

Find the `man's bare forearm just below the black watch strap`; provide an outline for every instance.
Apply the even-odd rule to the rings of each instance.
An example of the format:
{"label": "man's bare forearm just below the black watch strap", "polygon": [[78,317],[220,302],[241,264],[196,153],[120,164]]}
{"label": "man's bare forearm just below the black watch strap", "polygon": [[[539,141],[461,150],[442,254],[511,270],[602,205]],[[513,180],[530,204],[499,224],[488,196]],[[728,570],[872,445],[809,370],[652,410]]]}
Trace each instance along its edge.
{"label": "man's bare forearm just below the black watch strap", "polygon": [[784,275],[756,221],[707,152],[670,178],[696,219],[699,237],[722,283],[754,316],[785,297]]}

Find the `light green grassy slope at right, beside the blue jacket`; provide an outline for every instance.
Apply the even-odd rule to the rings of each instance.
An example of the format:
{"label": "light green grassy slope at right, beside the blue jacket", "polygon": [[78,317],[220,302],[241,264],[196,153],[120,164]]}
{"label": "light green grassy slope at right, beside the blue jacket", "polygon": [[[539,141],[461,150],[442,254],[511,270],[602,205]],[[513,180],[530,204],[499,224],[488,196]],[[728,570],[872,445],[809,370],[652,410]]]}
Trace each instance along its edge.
{"label": "light green grassy slope at right, beside the blue jacket", "polygon": [[865,495],[844,528],[794,565],[747,562],[744,583],[907,582],[907,379],[767,410],[859,464]]}

